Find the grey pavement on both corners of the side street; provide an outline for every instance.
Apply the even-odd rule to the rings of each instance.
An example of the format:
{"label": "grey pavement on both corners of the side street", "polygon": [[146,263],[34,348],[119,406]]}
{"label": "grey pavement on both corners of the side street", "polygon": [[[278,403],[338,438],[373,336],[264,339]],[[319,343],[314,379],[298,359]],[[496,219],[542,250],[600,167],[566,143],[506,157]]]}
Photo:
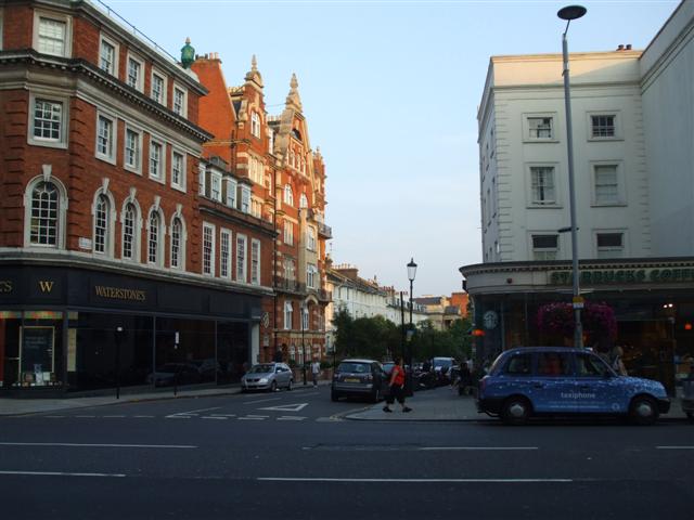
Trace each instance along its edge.
{"label": "grey pavement on both corners of the side street", "polygon": [[[330,381],[320,381],[321,386],[330,385]],[[296,386],[297,389],[301,385]],[[195,399],[214,395],[232,395],[241,393],[241,387],[215,387],[215,388],[180,388],[176,395],[172,389],[166,391],[143,391],[139,393],[125,393],[116,399],[112,395],[75,396],[66,399],[17,399],[0,398],[0,417],[30,414],[51,413],[56,411],[76,410],[92,406],[107,406],[112,404],[134,403],[142,401],[160,401],[171,399]],[[407,399],[407,405],[412,408],[410,413],[403,413],[401,406],[395,403],[390,406],[391,414],[383,412],[384,403],[374,404],[360,410],[357,413],[345,415],[351,420],[386,420],[386,421],[465,421],[465,420],[497,420],[486,414],[478,414],[475,407],[475,399],[471,395],[458,395],[458,391],[450,387],[441,387],[434,390],[415,392]],[[668,414],[660,415],[660,420],[686,420],[682,412],[681,398],[672,398],[672,404]]]}

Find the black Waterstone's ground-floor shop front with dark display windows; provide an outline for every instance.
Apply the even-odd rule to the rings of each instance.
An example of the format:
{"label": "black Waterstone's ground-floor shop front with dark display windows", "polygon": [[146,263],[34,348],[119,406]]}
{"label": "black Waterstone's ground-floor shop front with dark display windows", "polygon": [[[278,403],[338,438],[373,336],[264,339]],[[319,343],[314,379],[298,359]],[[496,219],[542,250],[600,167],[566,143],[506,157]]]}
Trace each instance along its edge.
{"label": "black Waterstone's ground-floor shop front with dark display windows", "polygon": [[235,382],[257,356],[260,318],[256,295],[3,266],[0,394]]}

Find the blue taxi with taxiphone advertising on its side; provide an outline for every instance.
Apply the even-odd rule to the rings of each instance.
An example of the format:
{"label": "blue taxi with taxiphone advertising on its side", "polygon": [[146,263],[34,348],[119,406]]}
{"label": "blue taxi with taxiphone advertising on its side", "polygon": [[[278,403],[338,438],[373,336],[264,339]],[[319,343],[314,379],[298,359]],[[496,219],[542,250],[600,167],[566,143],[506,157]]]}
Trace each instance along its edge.
{"label": "blue taxi with taxiphone advertising on its side", "polygon": [[617,375],[588,349],[526,347],[497,358],[479,381],[477,410],[520,424],[541,415],[617,415],[647,425],[667,413],[665,387]]}

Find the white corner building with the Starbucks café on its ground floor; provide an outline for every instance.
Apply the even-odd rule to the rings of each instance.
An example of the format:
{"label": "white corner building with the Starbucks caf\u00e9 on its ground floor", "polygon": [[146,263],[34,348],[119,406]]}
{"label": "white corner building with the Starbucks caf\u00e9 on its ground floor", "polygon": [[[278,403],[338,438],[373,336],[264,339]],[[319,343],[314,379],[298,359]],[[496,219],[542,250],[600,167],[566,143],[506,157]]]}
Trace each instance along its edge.
{"label": "white corner building with the Starbucks caf\u00e9 on its ground floor", "polygon": [[[693,38],[686,0],[645,51],[569,61],[581,291],[614,310],[630,373],[670,389],[694,354]],[[561,54],[489,63],[478,112],[484,262],[460,270],[480,358],[557,341],[538,329],[538,309],[570,301],[562,69]]]}

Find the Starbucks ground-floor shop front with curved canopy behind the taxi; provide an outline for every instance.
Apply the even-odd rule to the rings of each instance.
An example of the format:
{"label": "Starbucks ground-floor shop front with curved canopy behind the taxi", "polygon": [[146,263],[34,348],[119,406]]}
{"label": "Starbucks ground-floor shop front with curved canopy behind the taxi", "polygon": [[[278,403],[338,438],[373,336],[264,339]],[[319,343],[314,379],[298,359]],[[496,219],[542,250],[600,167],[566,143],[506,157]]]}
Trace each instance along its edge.
{"label": "Starbucks ground-floor shop front with curved canopy behind the taxi", "polygon": [[[661,381],[670,392],[694,363],[694,258],[581,261],[586,301],[607,303],[617,318],[614,342],[630,375]],[[571,301],[570,262],[503,262],[460,269],[474,307],[476,359],[519,346],[562,344],[542,334],[538,309]],[[595,338],[586,335],[591,347]]]}

